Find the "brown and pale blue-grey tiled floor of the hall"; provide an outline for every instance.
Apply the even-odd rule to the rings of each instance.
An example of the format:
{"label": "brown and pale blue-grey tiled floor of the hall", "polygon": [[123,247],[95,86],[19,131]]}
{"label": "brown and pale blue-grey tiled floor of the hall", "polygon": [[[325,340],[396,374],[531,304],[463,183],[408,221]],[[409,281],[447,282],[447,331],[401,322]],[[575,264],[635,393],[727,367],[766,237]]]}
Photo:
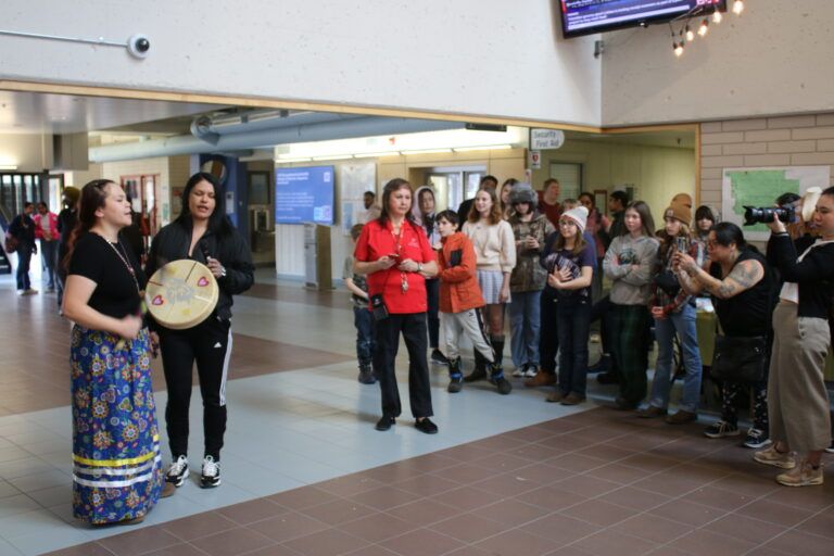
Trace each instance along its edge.
{"label": "brown and pale blue-grey tiled floor of the hall", "polygon": [[438,371],[440,434],[407,416],[376,432],[344,298],[258,282],[236,301],[223,486],[189,482],[141,526],[89,529],[71,517],[66,324],[53,298],[0,277],[0,555],[834,554],[831,472],[781,488],[703,425],[545,404],[520,384],[451,396]]}

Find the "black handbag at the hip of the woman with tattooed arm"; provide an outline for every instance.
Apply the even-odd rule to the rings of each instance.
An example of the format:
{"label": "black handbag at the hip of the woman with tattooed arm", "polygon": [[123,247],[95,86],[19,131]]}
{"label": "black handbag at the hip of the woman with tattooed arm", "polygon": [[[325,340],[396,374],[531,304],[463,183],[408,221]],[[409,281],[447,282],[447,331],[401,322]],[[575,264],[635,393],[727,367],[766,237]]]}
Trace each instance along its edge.
{"label": "black handbag at the hip of the woman with tattooed arm", "polygon": [[733,338],[716,336],[712,378],[733,382],[759,382],[768,369],[768,340],[763,336]]}

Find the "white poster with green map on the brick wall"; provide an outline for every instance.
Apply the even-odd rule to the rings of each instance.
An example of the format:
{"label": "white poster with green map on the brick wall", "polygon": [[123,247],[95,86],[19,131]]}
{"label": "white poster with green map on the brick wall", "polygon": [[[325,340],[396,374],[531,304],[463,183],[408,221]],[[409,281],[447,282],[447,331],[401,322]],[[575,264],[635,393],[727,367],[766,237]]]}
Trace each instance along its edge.
{"label": "white poster with green map on the brick wall", "polygon": [[722,218],[738,225],[751,241],[767,241],[763,224],[744,226],[745,206],[773,206],[782,193],[805,193],[809,187],[829,187],[831,166],[724,168],[721,184]]}

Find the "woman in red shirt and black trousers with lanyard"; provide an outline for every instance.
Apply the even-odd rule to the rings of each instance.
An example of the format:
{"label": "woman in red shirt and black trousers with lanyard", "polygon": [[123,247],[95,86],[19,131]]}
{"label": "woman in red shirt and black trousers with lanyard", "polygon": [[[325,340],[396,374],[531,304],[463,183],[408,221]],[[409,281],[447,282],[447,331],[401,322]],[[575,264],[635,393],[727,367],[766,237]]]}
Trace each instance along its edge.
{"label": "woman in red shirt and black trousers with lanyard", "polygon": [[[394,374],[402,332],[408,350],[408,393],[412,414],[417,419],[415,427],[434,434],[438,427],[429,419],[432,409],[426,358],[426,278],[437,276],[438,264],[426,233],[412,222],[410,208],[412,186],[400,178],[386,184],[382,214],[362,229],[353,270],[368,276],[368,308],[375,311],[377,325],[374,371],[382,392],[382,418],[376,428],[389,430],[402,413]],[[383,309],[376,307],[377,295],[382,298]],[[387,316],[380,315],[382,312]]]}

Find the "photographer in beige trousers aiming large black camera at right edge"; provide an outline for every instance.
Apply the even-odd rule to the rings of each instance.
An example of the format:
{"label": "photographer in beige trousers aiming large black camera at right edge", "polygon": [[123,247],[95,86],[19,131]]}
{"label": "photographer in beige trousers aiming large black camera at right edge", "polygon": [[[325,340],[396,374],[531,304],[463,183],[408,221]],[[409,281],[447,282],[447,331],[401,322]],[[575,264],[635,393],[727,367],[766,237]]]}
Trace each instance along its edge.
{"label": "photographer in beige trousers aiming large black camera at right edge", "polygon": [[823,371],[831,346],[827,316],[834,279],[834,188],[825,189],[817,201],[812,224],[820,238],[797,256],[784,223],[776,218],[768,223],[772,230],[768,260],[779,268],[785,283],[773,312],[768,391],[774,444],[757,452],[754,459],[789,469],[776,477],[779,483],[788,486],[822,484],[822,452],[831,443]]}

